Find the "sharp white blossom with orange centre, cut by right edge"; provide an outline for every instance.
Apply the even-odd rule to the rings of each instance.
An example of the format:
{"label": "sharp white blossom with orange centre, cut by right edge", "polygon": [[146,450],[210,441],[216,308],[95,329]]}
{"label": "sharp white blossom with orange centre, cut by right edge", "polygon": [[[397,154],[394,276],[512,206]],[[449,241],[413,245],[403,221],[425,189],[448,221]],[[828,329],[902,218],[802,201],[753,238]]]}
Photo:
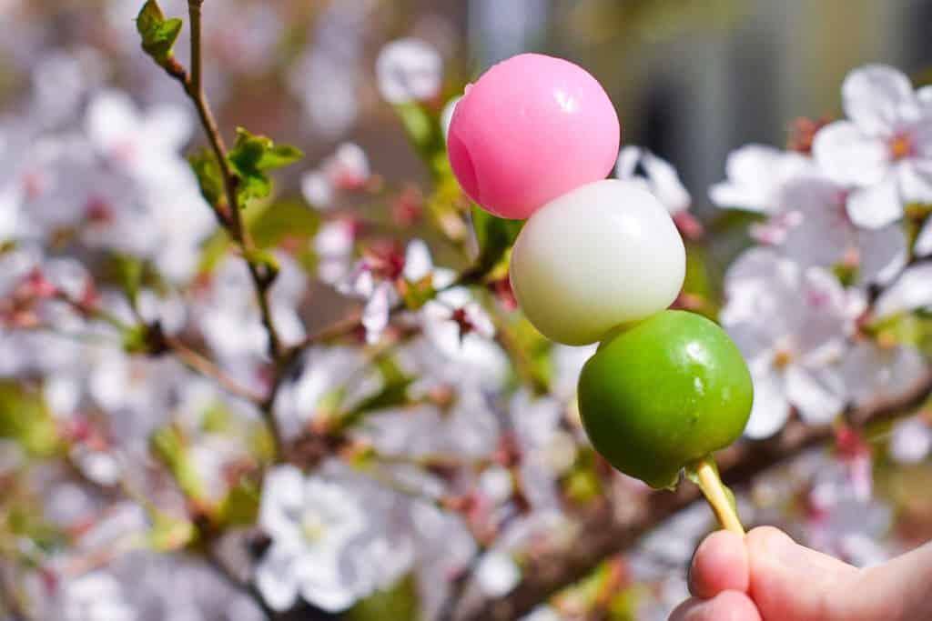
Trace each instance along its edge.
{"label": "sharp white blossom with orange centre, cut by right edge", "polygon": [[842,86],[846,120],[820,129],[813,142],[819,167],[856,186],[851,220],[865,228],[896,222],[903,206],[932,202],[932,109],[898,70],[871,64]]}

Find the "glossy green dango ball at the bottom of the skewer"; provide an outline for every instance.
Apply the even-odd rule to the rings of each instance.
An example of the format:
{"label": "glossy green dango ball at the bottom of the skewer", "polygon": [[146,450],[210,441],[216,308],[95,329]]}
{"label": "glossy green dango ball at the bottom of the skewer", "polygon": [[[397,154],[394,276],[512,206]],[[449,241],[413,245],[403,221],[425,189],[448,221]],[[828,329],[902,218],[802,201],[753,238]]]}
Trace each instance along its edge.
{"label": "glossy green dango ball at the bottom of the skewer", "polygon": [[716,323],[685,311],[662,311],[610,336],[579,381],[596,451],[654,488],[738,439],[752,401],[741,352]]}

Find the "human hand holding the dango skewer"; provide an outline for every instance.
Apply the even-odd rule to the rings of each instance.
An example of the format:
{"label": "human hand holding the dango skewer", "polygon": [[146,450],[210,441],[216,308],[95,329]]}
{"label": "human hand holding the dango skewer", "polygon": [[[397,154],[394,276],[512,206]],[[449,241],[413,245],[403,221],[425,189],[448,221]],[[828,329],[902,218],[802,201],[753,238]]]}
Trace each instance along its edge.
{"label": "human hand holding the dango skewer", "polygon": [[772,527],[712,533],[670,621],[932,621],[932,543],[856,567]]}

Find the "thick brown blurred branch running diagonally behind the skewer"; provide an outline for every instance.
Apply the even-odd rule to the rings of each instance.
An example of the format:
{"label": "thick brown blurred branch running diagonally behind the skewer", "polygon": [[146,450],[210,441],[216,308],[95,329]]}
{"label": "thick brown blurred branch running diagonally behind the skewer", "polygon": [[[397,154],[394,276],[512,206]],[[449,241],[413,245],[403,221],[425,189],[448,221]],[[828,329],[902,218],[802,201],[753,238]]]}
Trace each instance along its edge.
{"label": "thick brown blurred branch running diagonally behind the skewer", "polygon": [[[932,394],[932,372],[898,398],[881,399],[848,412],[848,420],[863,426],[890,420],[921,405]],[[830,425],[790,422],[773,439],[745,441],[716,457],[724,479],[744,484],[764,470],[833,437]],[[466,601],[457,621],[505,621],[527,614],[556,591],[589,574],[596,565],[637,544],[640,537],[699,498],[694,485],[676,492],[633,493],[602,504],[579,520],[583,536],[571,537],[549,549],[535,551],[524,568],[524,580],[498,599]]]}

